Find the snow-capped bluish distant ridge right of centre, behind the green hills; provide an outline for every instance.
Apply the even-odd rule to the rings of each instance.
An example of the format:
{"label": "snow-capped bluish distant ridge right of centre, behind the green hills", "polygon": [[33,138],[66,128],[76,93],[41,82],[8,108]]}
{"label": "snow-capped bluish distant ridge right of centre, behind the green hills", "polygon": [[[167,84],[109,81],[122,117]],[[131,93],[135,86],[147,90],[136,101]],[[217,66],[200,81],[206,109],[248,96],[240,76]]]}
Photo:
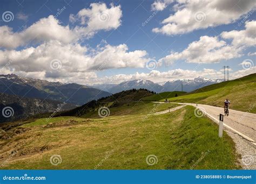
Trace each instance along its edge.
{"label": "snow-capped bluish distant ridge right of centre, behind the green hills", "polygon": [[202,88],[214,83],[223,82],[221,79],[208,79],[205,77],[197,77],[192,80],[174,80],[166,81],[161,83],[154,83],[150,80],[130,80],[119,84],[95,84],[91,87],[98,88],[101,90],[109,91],[109,93],[119,93],[123,90],[129,89],[148,89],[155,91],[156,93],[161,93],[165,91],[186,91],[190,92],[198,88]]}

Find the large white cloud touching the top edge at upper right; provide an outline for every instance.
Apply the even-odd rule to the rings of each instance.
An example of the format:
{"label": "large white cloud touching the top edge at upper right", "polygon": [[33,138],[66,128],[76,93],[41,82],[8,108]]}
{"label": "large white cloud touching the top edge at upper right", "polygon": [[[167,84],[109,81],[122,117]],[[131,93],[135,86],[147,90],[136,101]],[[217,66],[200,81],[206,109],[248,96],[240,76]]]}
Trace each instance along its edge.
{"label": "large white cloud touching the top edge at upper right", "polygon": [[[154,2],[164,9],[163,1]],[[254,0],[184,1],[177,0],[175,13],[163,20],[153,32],[166,35],[183,34],[222,24],[230,24],[255,7]],[[231,8],[232,7],[232,8]]]}

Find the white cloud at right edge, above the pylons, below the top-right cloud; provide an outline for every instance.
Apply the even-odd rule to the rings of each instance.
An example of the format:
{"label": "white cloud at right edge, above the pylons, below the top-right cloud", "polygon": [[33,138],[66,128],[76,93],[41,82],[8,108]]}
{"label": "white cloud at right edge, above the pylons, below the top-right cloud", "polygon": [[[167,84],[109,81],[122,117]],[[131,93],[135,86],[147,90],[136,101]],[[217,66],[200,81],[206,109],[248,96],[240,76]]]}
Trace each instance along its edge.
{"label": "white cloud at right edge, above the pylons, below the top-right cloud", "polygon": [[[202,36],[198,41],[193,41],[184,51],[173,52],[161,58],[160,62],[167,65],[177,60],[189,63],[215,63],[242,56],[245,48],[255,46],[256,21],[246,22],[245,30],[223,32],[219,37]],[[232,40],[231,44],[221,38]]]}

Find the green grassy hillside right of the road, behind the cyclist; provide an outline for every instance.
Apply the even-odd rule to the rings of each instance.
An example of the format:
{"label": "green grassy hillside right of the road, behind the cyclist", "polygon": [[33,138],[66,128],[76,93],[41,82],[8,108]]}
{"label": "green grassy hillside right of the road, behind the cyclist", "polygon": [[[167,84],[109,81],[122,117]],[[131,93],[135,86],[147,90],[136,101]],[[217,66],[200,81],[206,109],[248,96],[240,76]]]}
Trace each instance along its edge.
{"label": "green grassy hillside right of the road, behind the cyclist", "polygon": [[231,109],[256,113],[256,74],[212,84],[183,96],[168,98],[168,100],[223,107],[226,98],[231,101]]}

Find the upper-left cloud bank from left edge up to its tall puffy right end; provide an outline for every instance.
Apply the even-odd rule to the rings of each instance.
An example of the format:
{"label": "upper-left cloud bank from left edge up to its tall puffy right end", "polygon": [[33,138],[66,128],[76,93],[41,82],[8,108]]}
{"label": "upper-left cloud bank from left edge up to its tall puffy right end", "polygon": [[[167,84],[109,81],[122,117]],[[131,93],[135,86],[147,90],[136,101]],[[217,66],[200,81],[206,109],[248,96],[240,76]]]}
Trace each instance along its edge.
{"label": "upper-left cloud bank from left edge up to its tall puffy right end", "polygon": [[[69,25],[61,25],[52,15],[38,20],[21,32],[13,32],[8,26],[0,26],[0,37],[5,38],[0,40],[0,48],[41,44],[50,40],[69,44],[82,38],[92,37],[99,30],[109,31],[120,26],[122,17],[120,5],[111,5],[108,9],[106,4],[93,3],[90,8],[78,12],[77,17],[81,20],[82,26],[73,29]],[[75,19],[74,16],[73,18]]]}

